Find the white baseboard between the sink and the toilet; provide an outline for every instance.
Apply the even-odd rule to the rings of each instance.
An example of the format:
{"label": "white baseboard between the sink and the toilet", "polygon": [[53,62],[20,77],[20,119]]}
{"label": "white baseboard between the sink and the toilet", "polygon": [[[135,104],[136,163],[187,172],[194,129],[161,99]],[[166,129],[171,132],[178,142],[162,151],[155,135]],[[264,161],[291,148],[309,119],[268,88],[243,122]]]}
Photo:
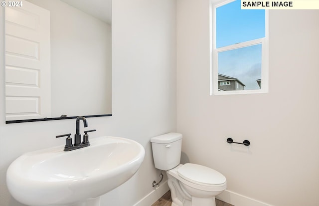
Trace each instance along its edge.
{"label": "white baseboard between the sink and the toilet", "polygon": [[160,184],[160,186],[145,196],[142,200],[136,203],[134,206],[152,206],[153,203],[158,201],[165,193],[169,191],[167,180]]}

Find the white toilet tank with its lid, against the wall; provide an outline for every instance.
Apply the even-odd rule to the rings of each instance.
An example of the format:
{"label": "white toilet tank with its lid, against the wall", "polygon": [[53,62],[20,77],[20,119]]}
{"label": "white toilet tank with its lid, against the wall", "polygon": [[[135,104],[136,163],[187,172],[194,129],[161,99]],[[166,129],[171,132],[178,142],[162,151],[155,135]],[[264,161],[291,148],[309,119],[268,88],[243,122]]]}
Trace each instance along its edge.
{"label": "white toilet tank with its lid, against the wall", "polygon": [[182,135],[167,133],[151,138],[155,167],[159,170],[170,170],[180,163]]}

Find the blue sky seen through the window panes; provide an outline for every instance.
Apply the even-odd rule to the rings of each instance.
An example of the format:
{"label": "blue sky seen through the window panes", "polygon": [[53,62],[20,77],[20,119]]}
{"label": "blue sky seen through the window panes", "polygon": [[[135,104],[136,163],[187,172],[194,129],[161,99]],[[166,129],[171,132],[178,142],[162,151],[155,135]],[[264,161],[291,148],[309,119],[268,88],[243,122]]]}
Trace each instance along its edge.
{"label": "blue sky seen through the window panes", "polygon": [[[216,8],[216,47],[265,37],[265,10],[240,9],[240,0]],[[220,52],[218,73],[238,78],[246,88],[259,89],[261,45]]]}

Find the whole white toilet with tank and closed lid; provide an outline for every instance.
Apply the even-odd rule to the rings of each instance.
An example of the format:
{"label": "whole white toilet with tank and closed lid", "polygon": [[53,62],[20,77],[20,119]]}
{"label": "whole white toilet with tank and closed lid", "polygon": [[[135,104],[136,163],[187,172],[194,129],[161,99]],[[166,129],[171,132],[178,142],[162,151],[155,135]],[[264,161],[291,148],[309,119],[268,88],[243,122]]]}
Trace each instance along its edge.
{"label": "whole white toilet with tank and closed lid", "polygon": [[181,165],[181,139],[179,133],[151,139],[155,167],[167,174],[171,206],[216,206],[215,196],[226,189],[225,176],[202,165]]}

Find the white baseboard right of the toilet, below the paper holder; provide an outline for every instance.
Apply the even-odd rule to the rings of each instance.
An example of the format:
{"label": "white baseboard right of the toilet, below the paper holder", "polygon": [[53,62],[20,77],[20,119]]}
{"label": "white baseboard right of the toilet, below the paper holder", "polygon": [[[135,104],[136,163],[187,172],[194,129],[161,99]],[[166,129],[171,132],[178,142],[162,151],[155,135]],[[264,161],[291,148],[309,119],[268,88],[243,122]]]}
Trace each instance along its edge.
{"label": "white baseboard right of the toilet, below the paper holder", "polygon": [[222,194],[216,196],[216,199],[233,206],[272,206],[228,190],[225,190]]}

